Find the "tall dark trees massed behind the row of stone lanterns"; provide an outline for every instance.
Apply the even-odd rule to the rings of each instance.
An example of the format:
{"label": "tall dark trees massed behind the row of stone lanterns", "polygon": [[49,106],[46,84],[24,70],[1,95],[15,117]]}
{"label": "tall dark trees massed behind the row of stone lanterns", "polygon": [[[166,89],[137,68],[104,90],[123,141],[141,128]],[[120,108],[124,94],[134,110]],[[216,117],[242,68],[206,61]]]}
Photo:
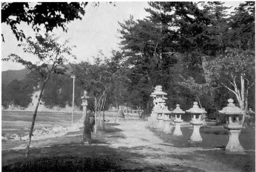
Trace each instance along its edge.
{"label": "tall dark trees massed behind the row of stone lanterns", "polygon": [[224,5],[151,2],[150,16],[120,23],[121,58],[132,81],[127,99],[136,97],[146,109],[152,88],[160,84],[170,107],[188,109],[199,101],[216,113],[229,97],[242,109],[254,107],[254,2],[240,4],[231,15]]}

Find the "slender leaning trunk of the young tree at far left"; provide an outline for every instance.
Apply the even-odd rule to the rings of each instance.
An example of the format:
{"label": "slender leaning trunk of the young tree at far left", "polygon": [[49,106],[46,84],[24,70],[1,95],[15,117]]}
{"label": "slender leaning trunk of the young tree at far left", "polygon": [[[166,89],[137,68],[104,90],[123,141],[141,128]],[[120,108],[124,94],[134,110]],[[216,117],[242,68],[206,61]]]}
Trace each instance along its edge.
{"label": "slender leaning trunk of the young tree at far left", "polygon": [[26,148],[27,149],[26,157],[29,156],[29,146],[30,146],[30,143],[31,143],[31,137],[33,135],[34,125],[35,125],[35,118],[36,118],[36,115],[37,115],[37,109],[38,109],[38,106],[39,106],[39,103],[40,103],[40,100],[41,100],[41,97],[42,97],[42,93],[44,92],[46,83],[50,78],[50,75],[52,73],[54,65],[55,65],[55,62],[53,63],[53,66],[52,66],[51,70],[47,74],[46,80],[42,84],[42,88],[41,88],[41,91],[40,91],[40,94],[39,94],[39,97],[38,97],[38,100],[37,100],[37,104],[36,104],[36,107],[35,107],[35,111],[34,111],[33,118],[32,118],[32,123],[31,123],[31,127],[30,127],[30,132],[29,132],[29,140],[28,140],[27,148]]}

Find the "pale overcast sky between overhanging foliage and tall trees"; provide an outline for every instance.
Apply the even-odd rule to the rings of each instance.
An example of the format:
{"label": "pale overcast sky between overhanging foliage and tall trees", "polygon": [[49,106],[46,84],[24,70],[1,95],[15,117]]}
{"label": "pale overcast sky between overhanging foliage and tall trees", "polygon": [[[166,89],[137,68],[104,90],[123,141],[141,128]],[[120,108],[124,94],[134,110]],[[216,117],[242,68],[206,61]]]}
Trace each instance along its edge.
{"label": "pale overcast sky between overhanging foliage and tall trees", "polygon": [[[226,6],[237,7],[241,2],[226,2]],[[118,21],[122,22],[133,15],[135,19],[142,19],[148,15],[144,8],[147,8],[147,2],[118,2],[109,4],[101,2],[99,7],[92,4],[86,7],[86,14],[82,20],[75,20],[68,24],[69,31],[64,33],[62,29],[54,29],[53,33],[60,36],[61,39],[70,38],[70,45],[75,45],[73,53],[77,56],[77,60],[70,62],[92,61],[92,57],[98,54],[99,50],[106,56],[110,56],[111,51],[118,49],[117,29],[120,28]],[[232,9],[233,9],[232,8]],[[26,36],[34,35],[31,27],[23,24],[20,26]],[[17,47],[19,42],[12,33],[10,26],[1,25],[1,32],[4,34],[5,42],[2,42],[2,57],[7,57],[10,53],[15,53],[21,57],[34,61],[34,56],[25,54],[22,48]],[[18,63],[2,62],[2,71],[19,70],[24,67]]]}

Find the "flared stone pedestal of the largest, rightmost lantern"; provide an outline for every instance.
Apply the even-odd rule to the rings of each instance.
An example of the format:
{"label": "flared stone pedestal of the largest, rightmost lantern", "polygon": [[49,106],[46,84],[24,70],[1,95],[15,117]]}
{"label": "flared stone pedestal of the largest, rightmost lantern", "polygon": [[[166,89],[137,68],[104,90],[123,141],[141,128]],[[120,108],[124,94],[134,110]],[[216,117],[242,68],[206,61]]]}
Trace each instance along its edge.
{"label": "flared stone pedestal of the largest, rightmost lantern", "polygon": [[224,125],[228,130],[229,140],[227,146],[225,147],[226,153],[228,154],[245,154],[244,148],[240,144],[239,135],[241,133],[242,125]]}

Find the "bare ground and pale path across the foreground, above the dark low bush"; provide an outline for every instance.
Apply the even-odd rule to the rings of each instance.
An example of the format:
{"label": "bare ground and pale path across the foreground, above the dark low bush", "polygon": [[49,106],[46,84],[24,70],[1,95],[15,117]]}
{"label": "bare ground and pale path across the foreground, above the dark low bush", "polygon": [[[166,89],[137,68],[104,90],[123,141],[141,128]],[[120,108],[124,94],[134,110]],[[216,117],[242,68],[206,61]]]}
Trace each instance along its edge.
{"label": "bare ground and pale path across the foreground, above the dark low bush", "polygon": [[[186,141],[148,128],[145,120],[119,120],[107,123],[105,131],[93,136],[92,144],[82,143],[81,131],[33,141],[30,158],[108,157],[124,171],[255,171],[253,150],[246,155],[227,155],[223,148],[180,146]],[[2,142],[2,165],[23,160],[25,150],[20,148],[24,147],[23,141]]]}

